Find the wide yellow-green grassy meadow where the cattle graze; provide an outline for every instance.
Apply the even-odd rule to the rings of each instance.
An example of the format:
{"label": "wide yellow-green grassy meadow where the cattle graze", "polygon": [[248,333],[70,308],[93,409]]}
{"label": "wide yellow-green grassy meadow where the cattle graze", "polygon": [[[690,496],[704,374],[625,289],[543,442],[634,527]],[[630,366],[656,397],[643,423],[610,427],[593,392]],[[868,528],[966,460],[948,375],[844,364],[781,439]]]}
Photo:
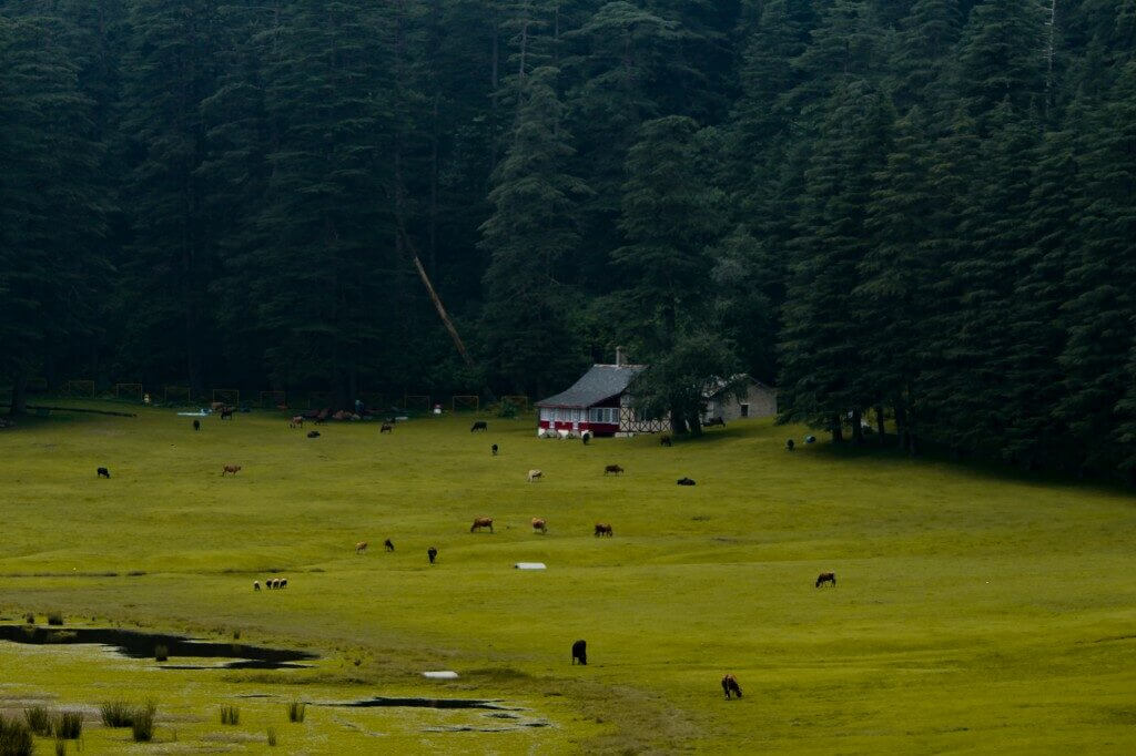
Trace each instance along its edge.
{"label": "wide yellow-green grassy meadow where the cattle graze", "polygon": [[[320,654],[306,670],[160,670],[0,642],[0,711],[85,711],[84,754],[1136,750],[1128,493],[826,444],[787,453],[804,431],[761,420],[674,448],[487,420],[487,434],[446,418],[308,439],[267,413],[194,434],[150,409],[0,431],[9,622],[56,611],[64,630]],[[223,477],[227,463],[243,469]],[[545,478],[526,482],[529,468]],[[495,534],[469,532],[479,515]],[[593,537],[598,521],[615,537]],[[813,588],[828,570],[838,586]],[[268,577],[289,589],[253,593]],[[577,638],[587,666],[569,664]],[[420,677],[438,669],[461,677]],[[741,700],[722,699],[726,672]],[[325,705],[375,695],[519,711]],[[98,724],[101,702],[147,698],[154,742]],[[311,703],[303,723],[292,700]]]}

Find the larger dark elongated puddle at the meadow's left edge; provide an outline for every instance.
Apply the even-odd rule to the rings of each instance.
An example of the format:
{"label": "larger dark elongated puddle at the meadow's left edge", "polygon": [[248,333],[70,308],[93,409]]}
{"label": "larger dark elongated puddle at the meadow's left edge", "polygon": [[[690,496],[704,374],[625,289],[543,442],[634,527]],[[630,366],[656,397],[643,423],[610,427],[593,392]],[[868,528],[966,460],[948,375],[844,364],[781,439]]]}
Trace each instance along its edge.
{"label": "larger dark elongated puddle at the meadow's left edge", "polygon": [[[42,628],[31,624],[0,624],[0,640],[43,646],[93,644],[107,646],[130,658],[154,658],[159,646],[166,648],[165,670],[286,670],[310,666],[299,662],[317,658],[315,654],[244,644],[194,640],[182,636],[140,632],[118,628]],[[234,660],[224,664],[193,664],[192,660]],[[187,663],[189,662],[189,663]]]}

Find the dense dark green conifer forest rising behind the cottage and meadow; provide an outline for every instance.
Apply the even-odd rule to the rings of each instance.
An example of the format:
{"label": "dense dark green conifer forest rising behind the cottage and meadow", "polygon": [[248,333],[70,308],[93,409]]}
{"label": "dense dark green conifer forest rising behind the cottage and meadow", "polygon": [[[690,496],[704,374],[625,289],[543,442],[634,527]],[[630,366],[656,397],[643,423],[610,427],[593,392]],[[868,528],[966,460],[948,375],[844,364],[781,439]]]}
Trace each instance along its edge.
{"label": "dense dark green conifer forest rising behind the cottage and meadow", "polygon": [[1134,51],[1136,0],[2,0],[0,383],[621,344],[674,409],[1131,478]]}

